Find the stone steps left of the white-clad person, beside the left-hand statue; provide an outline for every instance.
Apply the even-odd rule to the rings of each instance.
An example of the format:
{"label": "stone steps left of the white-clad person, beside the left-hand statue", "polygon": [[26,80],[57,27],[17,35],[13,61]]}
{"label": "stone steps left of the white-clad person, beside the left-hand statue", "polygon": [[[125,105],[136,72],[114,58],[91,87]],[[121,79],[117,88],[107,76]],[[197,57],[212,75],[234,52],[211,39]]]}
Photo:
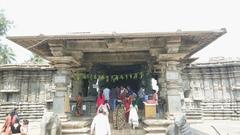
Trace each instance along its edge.
{"label": "stone steps left of the white-clad person, beside the left-hand statue", "polygon": [[88,135],[91,118],[73,117],[70,121],[62,121],[62,135]]}

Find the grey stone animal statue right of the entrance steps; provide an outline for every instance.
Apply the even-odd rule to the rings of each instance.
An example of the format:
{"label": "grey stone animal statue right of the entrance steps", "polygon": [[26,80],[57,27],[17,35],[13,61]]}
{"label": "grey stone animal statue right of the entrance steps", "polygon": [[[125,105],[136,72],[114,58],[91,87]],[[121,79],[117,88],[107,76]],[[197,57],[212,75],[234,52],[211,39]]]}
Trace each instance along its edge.
{"label": "grey stone animal statue right of the entrance steps", "polygon": [[167,135],[193,135],[184,114],[178,114],[174,118],[174,123],[168,126]]}

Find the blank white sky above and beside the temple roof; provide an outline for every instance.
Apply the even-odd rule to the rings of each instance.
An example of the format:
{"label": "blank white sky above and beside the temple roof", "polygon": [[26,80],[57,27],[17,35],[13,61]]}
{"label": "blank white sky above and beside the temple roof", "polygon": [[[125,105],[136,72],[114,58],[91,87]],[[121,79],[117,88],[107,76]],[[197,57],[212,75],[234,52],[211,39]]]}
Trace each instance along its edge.
{"label": "blank white sky above and beside the temple roof", "polygon": [[[58,35],[77,32],[134,33],[202,31],[226,28],[227,33],[193,57],[239,57],[238,0],[0,0],[13,21],[7,36]],[[31,56],[2,39],[17,54],[17,63]]]}

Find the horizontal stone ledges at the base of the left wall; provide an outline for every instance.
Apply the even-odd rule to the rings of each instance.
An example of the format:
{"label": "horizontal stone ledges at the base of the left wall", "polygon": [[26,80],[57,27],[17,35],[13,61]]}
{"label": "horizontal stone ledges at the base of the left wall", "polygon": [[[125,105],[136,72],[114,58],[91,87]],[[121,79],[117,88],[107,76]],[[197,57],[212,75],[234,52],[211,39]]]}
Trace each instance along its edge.
{"label": "horizontal stone ledges at the base of the left wall", "polygon": [[43,103],[1,103],[0,104],[0,122],[4,122],[6,114],[10,113],[14,108],[18,108],[20,119],[29,121],[40,121],[44,113]]}

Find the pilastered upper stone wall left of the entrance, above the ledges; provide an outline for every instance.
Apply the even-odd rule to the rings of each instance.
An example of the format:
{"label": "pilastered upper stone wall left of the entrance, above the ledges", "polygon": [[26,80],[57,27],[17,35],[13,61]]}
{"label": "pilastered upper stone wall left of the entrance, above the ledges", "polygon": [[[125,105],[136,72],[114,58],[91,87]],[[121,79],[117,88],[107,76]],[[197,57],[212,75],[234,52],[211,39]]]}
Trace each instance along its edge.
{"label": "pilastered upper stone wall left of the entrance, above the ledges", "polygon": [[49,65],[2,65],[0,103],[51,100],[54,72]]}

